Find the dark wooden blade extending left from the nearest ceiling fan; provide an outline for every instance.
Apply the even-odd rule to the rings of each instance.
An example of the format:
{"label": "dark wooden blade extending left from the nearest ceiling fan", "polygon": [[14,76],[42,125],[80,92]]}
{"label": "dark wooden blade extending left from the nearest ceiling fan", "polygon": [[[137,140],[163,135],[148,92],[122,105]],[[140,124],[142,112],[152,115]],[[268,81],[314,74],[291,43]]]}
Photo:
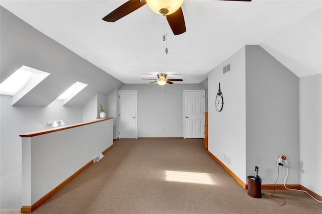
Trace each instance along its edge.
{"label": "dark wooden blade extending left from the nearest ceiling fan", "polygon": [[139,9],[143,5],[145,5],[146,2],[140,0],[130,0],[112,11],[110,14],[108,14],[106,17],[103,18],[104,21],[106,22],[115,22],[126,15],[132,13],[133,11]]}

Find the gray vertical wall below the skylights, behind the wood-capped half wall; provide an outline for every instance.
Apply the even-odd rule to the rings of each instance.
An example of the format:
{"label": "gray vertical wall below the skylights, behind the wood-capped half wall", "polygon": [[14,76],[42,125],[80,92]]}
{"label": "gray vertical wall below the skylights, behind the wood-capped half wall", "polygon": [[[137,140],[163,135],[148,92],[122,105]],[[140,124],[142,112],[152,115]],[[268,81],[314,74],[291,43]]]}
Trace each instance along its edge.
{"label": "gray vertical wall below the skylights, behind the wood-capped half wall", "polygon": [[45,107],[12,106],[11,96],[0,95],[1,209],[17,209],[22,205],[22,139],[19,135],[47,129],[48,121],[63,119],[66,125],[82,122],[82,106],[62,106],[61,103],[62,100],[55,100]]}

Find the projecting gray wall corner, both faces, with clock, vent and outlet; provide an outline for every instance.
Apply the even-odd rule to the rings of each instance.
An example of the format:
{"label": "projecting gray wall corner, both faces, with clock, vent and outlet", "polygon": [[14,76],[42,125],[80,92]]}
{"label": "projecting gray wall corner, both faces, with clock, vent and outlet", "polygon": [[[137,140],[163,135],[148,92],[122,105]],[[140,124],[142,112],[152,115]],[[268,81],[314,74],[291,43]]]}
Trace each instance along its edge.
{"label": "projecting gray wall corner, both faces, with clock, vent and outlet", "polygon": [[[222,74],[230,63],[231,70]],[[223,110],[214,109],[218,83]],[[208,148],[240,180],[259,166],[262,184],[277,178],[276,159],[290,164],[288,184],[299,184],[299,79],[258,45],[238,50],[208,75]],[[286,168],[280,168],[282,184]]]}

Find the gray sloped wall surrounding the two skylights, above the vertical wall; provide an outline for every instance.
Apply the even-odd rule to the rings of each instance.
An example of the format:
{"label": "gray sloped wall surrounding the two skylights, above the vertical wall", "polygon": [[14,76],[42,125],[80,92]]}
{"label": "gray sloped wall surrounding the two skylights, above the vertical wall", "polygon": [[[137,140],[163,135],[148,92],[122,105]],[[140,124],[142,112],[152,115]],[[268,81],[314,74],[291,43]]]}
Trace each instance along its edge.
{"label": "gray sloped wall surrounding the two skylights, above the vertical wall", "polygon": [[83,105],[123,83],[42,34],[8,10],[1,10],[1,82],[22,65],[50,73],[15,105],[46,106],[76,81],[88,84],[65,105]]}

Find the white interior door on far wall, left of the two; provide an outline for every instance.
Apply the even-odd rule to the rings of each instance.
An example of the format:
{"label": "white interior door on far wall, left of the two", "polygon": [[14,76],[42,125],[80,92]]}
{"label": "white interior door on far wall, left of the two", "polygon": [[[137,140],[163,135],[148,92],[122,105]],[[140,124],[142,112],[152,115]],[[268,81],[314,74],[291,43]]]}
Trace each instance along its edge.
{"label": "white interior door on far wall, left of the two", "polygon": [[137,139],[137,91],[119,91],[119,138]]}

